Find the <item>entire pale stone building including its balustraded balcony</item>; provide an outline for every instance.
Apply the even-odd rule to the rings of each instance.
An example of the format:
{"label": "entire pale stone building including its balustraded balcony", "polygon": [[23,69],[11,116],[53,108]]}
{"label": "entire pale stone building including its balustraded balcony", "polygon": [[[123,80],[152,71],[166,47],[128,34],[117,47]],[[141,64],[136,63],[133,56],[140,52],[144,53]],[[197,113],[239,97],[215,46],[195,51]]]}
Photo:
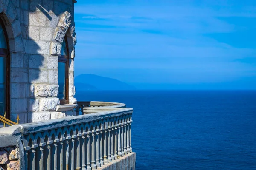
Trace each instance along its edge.
{"label": "entire pale stone building including its balustraded balcony", "polygon": [[75,0],[0,0],[0,170],[134,170],[132,108],[74,98]]}

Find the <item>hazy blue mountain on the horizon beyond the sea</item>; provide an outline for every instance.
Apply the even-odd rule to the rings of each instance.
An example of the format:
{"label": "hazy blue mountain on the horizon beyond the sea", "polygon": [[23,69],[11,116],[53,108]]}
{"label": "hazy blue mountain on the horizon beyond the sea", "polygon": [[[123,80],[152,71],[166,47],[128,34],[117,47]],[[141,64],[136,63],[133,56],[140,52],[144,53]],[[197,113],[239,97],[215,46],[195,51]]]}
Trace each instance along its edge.
{"label": "hazy blue mountain on the horizon beyond the sea", "polygon": [[75,78],[77,91],[83,90],[134,90],[135,87],[117,79],[94,74],[81,74]]}

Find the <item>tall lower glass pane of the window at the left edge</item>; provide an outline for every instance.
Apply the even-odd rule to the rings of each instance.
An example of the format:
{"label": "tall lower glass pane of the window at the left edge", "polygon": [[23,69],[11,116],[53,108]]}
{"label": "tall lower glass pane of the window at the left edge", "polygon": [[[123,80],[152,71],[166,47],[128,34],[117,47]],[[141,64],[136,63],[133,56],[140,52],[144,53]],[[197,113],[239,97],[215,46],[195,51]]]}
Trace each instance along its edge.
{"label": "tall lower glass pane of the window at the left edge", "polygon": [[0,57],[0,115],[6,111],[6,58]]}

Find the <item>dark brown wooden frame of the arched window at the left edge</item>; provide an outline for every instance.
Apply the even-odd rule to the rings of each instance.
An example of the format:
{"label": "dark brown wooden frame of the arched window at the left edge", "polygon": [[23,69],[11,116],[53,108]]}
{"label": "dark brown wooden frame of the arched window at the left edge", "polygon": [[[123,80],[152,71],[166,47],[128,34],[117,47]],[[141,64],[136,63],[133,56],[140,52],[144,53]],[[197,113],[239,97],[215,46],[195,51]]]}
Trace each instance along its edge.
{"label": "dark brown wooden frame of the arched window at the left edge", "polygon": [[7,49],[0,48],[0,57],[5,57],[6,58],[6,118],[10,119],[10,50],[9,50],[9,41],[8,41],[8,36],[6,32],[5,25],[3,23],[3,20],[0,18],[0,25],[3,28],[5,40],[6,40],[6,46]]}

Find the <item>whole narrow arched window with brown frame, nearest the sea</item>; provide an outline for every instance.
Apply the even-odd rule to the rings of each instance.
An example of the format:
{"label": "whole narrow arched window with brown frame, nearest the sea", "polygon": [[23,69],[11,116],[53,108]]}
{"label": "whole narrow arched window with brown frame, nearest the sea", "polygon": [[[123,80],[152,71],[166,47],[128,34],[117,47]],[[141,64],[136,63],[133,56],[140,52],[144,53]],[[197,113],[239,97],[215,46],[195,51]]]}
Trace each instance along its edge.
{"label": "whole narrow arched window with brown frame, nearest the sea", "polygon": [[58,97],[61,104],[68,104],[69,52],[67,36],[62,42],[61,56],[58,59]]}

